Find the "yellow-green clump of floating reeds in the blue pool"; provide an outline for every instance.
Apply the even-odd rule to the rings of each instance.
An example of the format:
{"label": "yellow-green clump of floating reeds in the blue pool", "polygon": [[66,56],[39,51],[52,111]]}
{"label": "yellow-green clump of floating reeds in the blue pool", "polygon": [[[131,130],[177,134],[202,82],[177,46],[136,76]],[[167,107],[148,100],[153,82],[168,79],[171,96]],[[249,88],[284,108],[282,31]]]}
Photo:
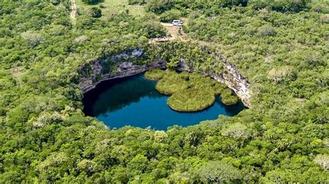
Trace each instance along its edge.
{"label": "yellow-green clump of floating reeds in the blue pool", "polygon": [[155,89],[162,94],[171,95],[167,104],[175,111],[202,111],[214,104],[215,95],[221,95],[221,100],[226,105],[237,104],[239,100],[226,84],[199,73],[153,69],[147,71],[145,77],[159,80]]}

